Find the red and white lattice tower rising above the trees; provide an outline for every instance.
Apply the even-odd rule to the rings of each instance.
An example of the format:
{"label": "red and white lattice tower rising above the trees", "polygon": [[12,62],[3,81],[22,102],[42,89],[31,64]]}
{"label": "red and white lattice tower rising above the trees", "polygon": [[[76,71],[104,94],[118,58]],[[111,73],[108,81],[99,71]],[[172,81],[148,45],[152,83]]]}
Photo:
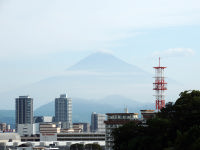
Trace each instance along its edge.
{"label": "red and white lattice tower rising above the trees", "polygon": [[159,57],[159,66],[154,67],[155,69],[155,82],[153,83],[153,90],[156,91],[156,110],[160,110],[165,107],[165,90],[167,90],[167,83],[165,82],[164,69],[166,67],[160,66],[160,57]]}

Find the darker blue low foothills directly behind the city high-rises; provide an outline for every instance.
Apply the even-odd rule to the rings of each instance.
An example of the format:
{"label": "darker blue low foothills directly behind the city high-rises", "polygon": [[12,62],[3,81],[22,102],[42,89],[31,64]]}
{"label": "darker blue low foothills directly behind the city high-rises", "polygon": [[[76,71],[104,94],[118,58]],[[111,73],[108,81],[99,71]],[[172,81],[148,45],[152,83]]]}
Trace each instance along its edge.
{"label": "darker blue low foothills directly behind the city high-rises", "polygon": [[[153,109],[153,103],[140,103],[131,99],[111,95],[98,101],[73,98],[72,99],[72,119],[73,122],[90,122],[92,112],[97,113],[120,113],[127,107],[129,112],[140,113],[141,109]],[[37,108],[34,111],[36,116],[54,116],[54,101]]]}

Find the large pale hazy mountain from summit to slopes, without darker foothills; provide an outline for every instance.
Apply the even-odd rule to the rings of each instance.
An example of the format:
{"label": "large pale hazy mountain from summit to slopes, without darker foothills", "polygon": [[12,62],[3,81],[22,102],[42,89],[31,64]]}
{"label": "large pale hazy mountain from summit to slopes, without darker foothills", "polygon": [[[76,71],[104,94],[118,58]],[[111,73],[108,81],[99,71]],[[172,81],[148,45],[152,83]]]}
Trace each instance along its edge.
{"label": "large pale hazy mountain from summit to slopes, without darker foothills", "polygon": [[[153,101],[152,76],[112,54],[98,52],[63,70],[61,75],[1,93],[3,105],[0,109],[13,109],[14,99],[20,95],[34,98],[34,107],[38,108],[66,92],[72,99],[81,97],[96,102],[107,95],[121,95],[137,102]],[[6,103],[3,103],[4,100]],[[116,103],[113,102],[112,105]]]}

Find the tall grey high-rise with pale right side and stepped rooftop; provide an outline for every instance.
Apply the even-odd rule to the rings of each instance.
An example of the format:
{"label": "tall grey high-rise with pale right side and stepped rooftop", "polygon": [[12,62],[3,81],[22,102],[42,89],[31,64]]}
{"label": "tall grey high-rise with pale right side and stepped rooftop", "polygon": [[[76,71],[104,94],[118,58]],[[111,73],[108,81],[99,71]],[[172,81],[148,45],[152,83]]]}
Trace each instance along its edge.
{"label": "tall grey high-rise with pale right side and stepped rooftop", "polygon": [[55,99],[55,121],[62,122],[62,128],[72,128],[72,99],[67,94],[61,94]]}

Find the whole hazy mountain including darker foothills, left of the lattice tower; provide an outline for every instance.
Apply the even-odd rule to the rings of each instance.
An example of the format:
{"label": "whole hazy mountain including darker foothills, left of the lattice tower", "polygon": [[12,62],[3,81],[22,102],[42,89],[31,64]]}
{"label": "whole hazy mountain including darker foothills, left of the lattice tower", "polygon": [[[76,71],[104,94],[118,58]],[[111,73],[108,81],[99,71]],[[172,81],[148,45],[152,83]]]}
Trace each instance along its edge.
{"label": "whole hazy mountain including darker foothills, left of the lattice tower", "polygon": [[75,122],[89,122],[92,112],[123,112],[126,106],[130,112],[138,113],[140,109],[154,109],[152,76],[112,54],[94,53],[63,69],[60,75],[1,93],[0,109],[12,110],[9,113],[2,110],[0,120],[9,123],[14,120],[15,98],[19,95],[29,95],[34,99],[35,115],[52,116],[55,98],[68,93],[72,98]]}

